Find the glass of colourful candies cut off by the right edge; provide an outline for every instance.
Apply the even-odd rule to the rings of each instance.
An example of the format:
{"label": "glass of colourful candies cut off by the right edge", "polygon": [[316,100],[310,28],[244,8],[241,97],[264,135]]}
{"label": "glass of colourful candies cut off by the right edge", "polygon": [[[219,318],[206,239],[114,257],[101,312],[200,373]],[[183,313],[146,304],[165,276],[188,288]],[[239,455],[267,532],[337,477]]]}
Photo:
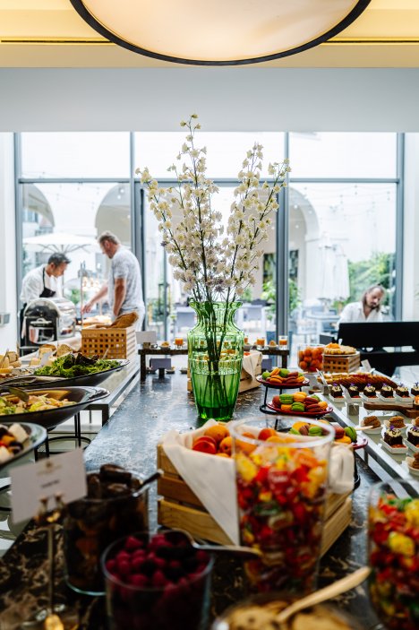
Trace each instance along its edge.
{"label": "glass of colourful candies cut off by the right edge", "polygon": [[419,627],[419,483],[374,484],[368,519],[369,591],[388,630]]}

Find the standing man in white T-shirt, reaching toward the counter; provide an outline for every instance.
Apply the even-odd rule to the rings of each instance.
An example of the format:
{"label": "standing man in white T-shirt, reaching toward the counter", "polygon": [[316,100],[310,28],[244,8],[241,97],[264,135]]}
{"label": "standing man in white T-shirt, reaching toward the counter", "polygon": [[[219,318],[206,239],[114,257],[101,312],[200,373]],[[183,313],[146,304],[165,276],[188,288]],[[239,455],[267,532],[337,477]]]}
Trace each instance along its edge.
{"label": "standing man in white T-shirt, reaching toward the counter", "polygon": [[98,293],[83,307],[83,313],[89,313],[99,299],[107,295],[112,315],[124,315],[135,311],[138,315],[137,330],[141,330],[145,306],[142,299],[140,263],[129,249],[112,232],[104,232],[98,237],[102,253],[111,260],[109,277]]}

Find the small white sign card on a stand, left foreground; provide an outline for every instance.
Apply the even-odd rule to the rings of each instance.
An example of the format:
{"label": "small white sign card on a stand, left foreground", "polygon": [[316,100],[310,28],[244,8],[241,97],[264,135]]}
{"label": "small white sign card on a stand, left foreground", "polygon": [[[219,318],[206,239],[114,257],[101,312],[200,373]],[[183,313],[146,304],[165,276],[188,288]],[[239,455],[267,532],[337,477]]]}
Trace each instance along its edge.
{"label": "small white sign card on a stand, left foreground", "polygon": [[56,507],[56,495],[70,503],[87,494],[83,450],[55,455],[36,463],[17,466],[11,471],[13,522],[36,516],[41,499],[47,511]]}

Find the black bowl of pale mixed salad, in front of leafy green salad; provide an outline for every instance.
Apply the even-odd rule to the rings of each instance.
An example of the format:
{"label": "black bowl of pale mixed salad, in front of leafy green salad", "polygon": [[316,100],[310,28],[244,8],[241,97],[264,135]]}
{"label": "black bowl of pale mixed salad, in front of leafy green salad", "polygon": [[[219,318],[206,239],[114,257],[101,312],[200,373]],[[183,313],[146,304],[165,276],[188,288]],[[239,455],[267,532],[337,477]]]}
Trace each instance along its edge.
{"label": "black bowl of pale mixed salad, in front of leafy green salad", "polygon": [[[47,395],[49,398],[55,398],[57,401],[62,401],[66,398],[74,404],[43,411],[15,413],[13,416],[0,416],[0,424],[3,423],[3,419],[7,419],[8,421],[12,419],[13,422],[19,422],[22,425],[27,420],[30,420],[30,422],[34,422],[49,430],[51,428],[55,428],[62,422],[65,422],[65,420],[72,418],[76,413],[79,413],[79,411],[88,407],[91,402],[105,398],[109,394],[109,392],[102,387],[56,387],[54,389],[31,389],[28,393],[34,396]],[[8,388],[5,384],[2,387],[1,395],[4,398],[13,396],[12,393],[8,392]]]}

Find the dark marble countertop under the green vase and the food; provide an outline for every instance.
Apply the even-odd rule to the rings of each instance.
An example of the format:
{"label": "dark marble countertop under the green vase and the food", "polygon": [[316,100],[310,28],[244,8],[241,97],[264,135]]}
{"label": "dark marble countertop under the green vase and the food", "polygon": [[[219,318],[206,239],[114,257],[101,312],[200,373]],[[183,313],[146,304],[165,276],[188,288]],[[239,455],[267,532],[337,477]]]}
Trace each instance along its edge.
{"label": "dark marble countertop under the green vase and the food", "polygon": [[[186,391],[186,375],[166,376],[159,380],[149,375],[144,383],[136,384],[118,410],[101,429],[85,451],[88,470],[102,463],[115,462],[131,470],[148,475],[156,469],[156,445],[169,429],[184,431],[199,426],[192,395]],[[262,388],[240,393],[235,417],[259,416]],[[358,460],[361,478],[353,495],[352,522],[338,541],[321,559],[320,586],[351,572],[366,563],[366,513],[368,492],[378,478],[363,461]],[[156,489],[150,490],[150,527],[157,527]],[[80,628],[105,630],[103,598],[75,595],[64,583],[62,537],[56,535],[56,590],[73,616],[79,618]],[[45,605],[47,600],[47,541],[45,531],[33,523],[23,531],[13,547],[0,561],[0,630],[17,630],[21,621]],[[212,615],[244,598],[241,565],[219,557],[213,578]],[[335,600],[338,606],[361,620],[363,628],[370,628],[377,619],[369,604],[365,588],[358,587]],[[34,626],[26,626],[34,627]]]}

